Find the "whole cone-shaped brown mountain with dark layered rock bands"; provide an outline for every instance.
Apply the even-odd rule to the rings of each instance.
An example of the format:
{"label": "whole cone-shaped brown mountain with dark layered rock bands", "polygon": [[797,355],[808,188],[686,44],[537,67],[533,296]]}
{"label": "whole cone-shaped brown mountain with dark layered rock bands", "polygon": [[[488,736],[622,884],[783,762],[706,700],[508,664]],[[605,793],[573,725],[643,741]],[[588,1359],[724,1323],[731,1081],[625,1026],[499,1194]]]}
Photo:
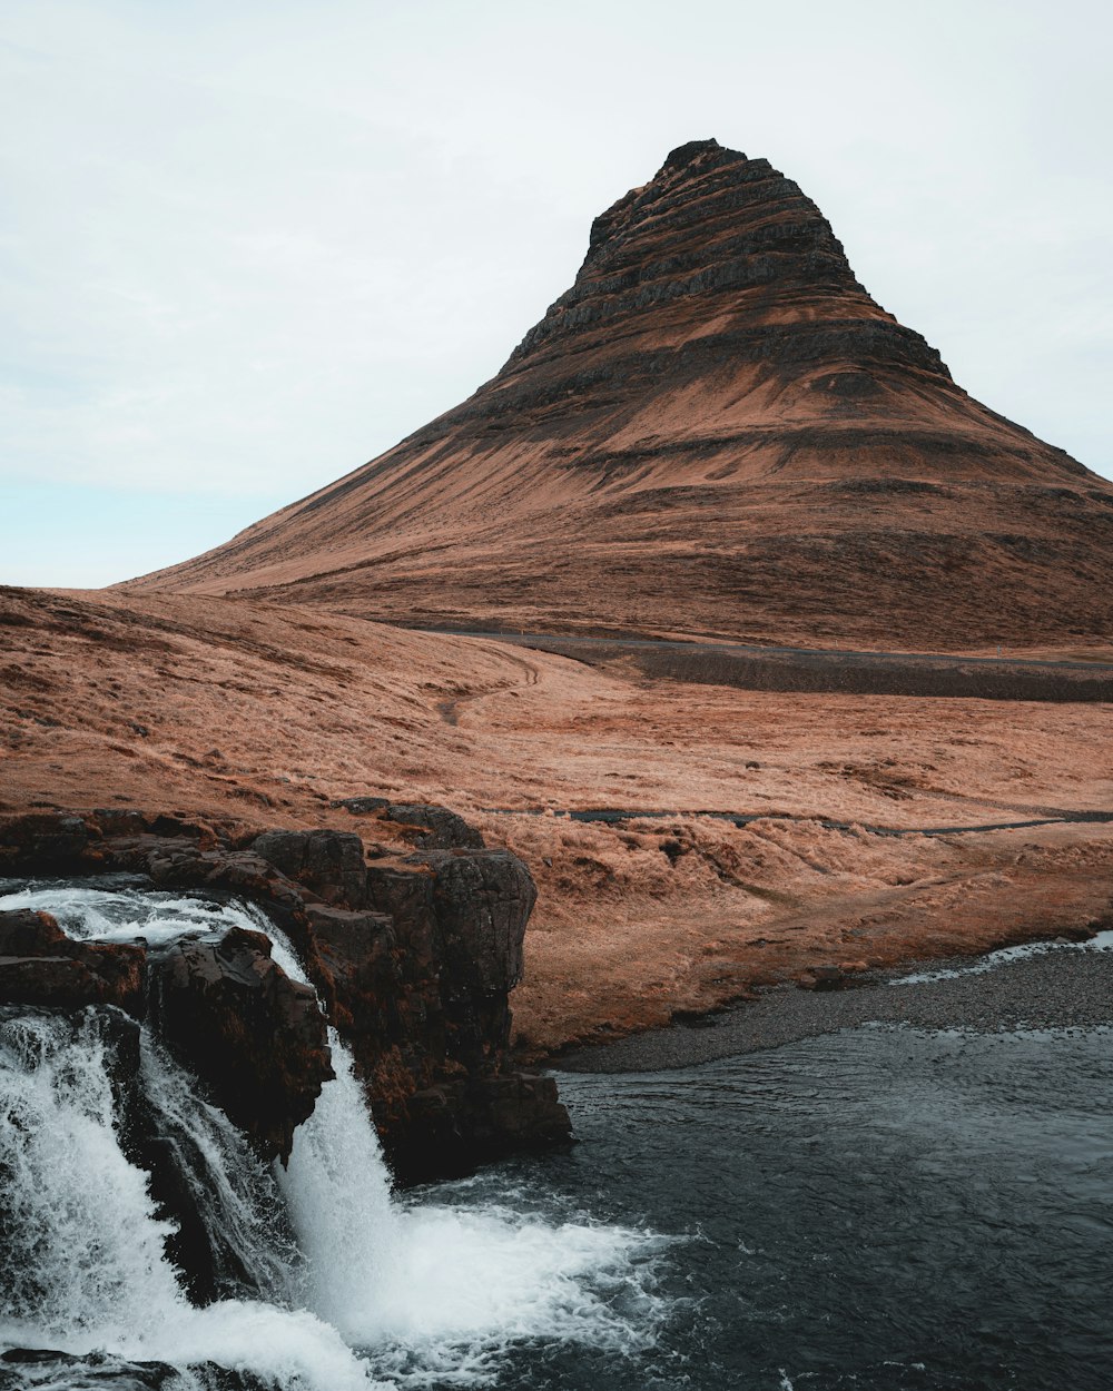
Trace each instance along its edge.
{"label": "whole cone-shaped brown mountain with dark layered rock bands", "polygon": [[469,401],[132,588],[408,625],[1085,644],[1113,484],[972,401],[767,160],[682,146]]}

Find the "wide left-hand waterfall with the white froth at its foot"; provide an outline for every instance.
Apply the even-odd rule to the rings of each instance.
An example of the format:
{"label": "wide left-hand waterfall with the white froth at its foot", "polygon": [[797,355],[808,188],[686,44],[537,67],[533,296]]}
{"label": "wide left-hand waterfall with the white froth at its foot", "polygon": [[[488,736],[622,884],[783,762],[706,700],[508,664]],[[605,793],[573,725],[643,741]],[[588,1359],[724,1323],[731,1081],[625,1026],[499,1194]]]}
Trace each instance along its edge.
{"label": "wide left-hand waterfall with the white froth at its foot", "polygon": [[366,1391],[366,1369],[309,1313],[188,1303],[163,1251],[171,1228],[120,1143],[106,1052],[96,1014],[0,1021],[0,1342]]}

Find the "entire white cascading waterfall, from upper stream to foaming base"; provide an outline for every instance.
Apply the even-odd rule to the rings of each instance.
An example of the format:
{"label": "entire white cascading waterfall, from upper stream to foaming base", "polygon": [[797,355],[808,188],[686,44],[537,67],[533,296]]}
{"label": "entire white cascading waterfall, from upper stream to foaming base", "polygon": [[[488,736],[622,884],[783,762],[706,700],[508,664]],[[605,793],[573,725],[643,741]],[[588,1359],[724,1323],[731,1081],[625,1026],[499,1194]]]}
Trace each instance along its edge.
{"label": "entire white cascading waterfall, from upper stream to foaming base", "polygon": [[[35,885],[0,896],[0,908],[15,907],[45,908],[71,936],[97,940],[161,943],[250,926],[305,979],[281,933],[245,906],[128,885]],[[117,1134],[100,1029],[96,1015],[75,1028],[36,1014],[0,1029],[0,1118],[8,1118],[0,1182],[14,1232],[14,1257],[0,1253],[3,1345],[159,1360],[179,1369],[181,1387],[203,1385],[211,1365],[285,1391],[348,1391],[383,1384],[374,1377],[483,1385],[516,1340],[632,1349],[652,1338],[658,1238],[547,1221],[526,1203],[516,1209],[513,1193],[498,1207],[392,1199],[351,1054],[334,1032],[337,1077],[274,1175],[143,1040],[147,1102],[188,1134],[206,1221],[220,1224],[269,1301],[191,1306],[166,1257],[168,1227],[146,1174]]]}

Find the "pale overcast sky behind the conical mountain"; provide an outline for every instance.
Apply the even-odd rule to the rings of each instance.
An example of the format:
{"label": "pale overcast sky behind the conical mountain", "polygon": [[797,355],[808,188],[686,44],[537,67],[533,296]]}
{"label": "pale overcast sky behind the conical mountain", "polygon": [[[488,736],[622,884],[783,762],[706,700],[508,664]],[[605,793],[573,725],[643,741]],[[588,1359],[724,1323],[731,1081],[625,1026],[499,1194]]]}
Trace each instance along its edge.
{"label": "pale overcast sky behind the conical mountain", "polygon": [[185,559],[469,395],[669,149],[765,156],[1113,476],[1113,6],[0,0],[0,581]]}

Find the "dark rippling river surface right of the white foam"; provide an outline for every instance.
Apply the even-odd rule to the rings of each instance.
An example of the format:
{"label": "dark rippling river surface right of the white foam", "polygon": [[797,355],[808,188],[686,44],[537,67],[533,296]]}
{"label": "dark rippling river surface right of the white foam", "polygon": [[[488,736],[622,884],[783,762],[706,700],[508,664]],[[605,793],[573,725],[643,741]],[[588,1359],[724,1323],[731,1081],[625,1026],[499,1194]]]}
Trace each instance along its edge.
{"label": "dark rippling river surface right of the white foam", "polygon": [[675,1303],[627,1365],[563,1352],[506,1385],[1109,1391],[1112,1045],[864,1027],[561,1077],[583,1143],[538,1177],[682,1235]]}

